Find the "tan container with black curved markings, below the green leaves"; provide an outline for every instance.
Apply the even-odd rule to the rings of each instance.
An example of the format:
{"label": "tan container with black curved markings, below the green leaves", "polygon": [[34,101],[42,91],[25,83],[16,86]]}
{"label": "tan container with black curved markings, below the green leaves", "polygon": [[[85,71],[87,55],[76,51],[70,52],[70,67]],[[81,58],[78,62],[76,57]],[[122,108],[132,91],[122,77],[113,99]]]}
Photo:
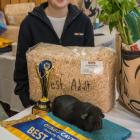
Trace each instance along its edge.
{"label": "tan container with black curved markings, below the green leaves", "polygon": [[140,117],[140,51],[122,49],[119,102]]}

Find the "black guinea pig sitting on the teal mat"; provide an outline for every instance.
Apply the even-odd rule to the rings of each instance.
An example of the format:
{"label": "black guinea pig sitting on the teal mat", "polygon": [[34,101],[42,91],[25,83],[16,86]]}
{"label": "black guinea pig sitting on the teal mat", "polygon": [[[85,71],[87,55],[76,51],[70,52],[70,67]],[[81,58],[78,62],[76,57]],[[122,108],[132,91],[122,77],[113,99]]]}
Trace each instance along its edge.
{"label": "black guinea pig sitting on the teal mat", "polygon": [[100,108],[70,95],[56,97],[52,102],[52,113],[88,132],[101,129],[104,118]]}

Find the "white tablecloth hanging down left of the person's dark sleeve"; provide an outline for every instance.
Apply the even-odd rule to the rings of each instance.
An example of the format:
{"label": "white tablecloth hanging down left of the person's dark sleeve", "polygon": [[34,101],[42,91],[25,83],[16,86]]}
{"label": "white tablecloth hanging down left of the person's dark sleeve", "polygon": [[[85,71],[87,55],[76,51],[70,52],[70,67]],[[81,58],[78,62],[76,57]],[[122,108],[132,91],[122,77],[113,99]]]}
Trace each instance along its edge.
{"label": "white tablecloth hanging down left of the person's dark sleeve", "polygon": [[14,94],[14,66],[15,57],[11,52],[0,54],[0,101],[8,103],[11,110],[20,112],[24,107],[18,96]]}

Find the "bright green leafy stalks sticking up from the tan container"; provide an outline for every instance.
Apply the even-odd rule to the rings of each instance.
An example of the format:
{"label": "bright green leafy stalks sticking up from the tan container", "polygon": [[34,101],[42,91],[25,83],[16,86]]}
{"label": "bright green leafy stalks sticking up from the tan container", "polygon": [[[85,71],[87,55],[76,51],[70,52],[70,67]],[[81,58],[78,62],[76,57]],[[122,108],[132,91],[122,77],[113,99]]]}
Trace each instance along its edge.
{"label": "bright green leafy stalks sticking up from the tan container", "polygon": [[120,32],[123,43],[132,44],[135,40],[130,27],[140,34],[140,22],[130,16],[131,11],[136,9],[136,0],[98,0],[98,3],[102,9],[100,21],[108,23],[110,31],[115,27]]}

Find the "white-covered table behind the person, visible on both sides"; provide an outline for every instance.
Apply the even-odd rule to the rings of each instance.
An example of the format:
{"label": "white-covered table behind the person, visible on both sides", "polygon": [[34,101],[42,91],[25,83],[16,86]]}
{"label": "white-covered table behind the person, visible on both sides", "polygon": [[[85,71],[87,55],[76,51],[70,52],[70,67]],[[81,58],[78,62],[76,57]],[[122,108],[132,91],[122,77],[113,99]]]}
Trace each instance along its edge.
{"label": "white-covered table behind the person, visible on both sides", "polygon": [[[110,34],[108,26],[104,26],[94,31],[104,33],[102,36],[95,36],[95,46],[112,47],[115,45],[115,32]],[[13,72],[15,66],[15,56],[12,53],[0,54],[0,101],[8,103],[11,110],[20,112],[24,109],[18,96],[14,94],[15,83]]]}

